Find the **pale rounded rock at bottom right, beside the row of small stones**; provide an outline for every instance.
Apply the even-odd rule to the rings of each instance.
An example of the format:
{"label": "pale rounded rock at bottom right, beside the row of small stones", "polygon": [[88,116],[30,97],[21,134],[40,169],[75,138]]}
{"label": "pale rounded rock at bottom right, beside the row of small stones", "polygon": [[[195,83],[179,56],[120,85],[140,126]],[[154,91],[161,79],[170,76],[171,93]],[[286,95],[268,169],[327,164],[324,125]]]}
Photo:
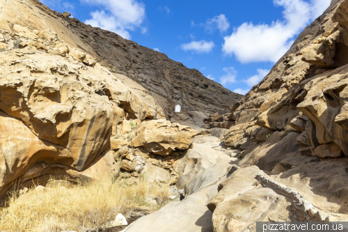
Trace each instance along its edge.
{"label": "pale rounded rock at bottom right, beside the row of small stones", "polygon": [[255,231],[256,222],[296,221],[290,201],[255,179],[262,174],[255,166],[237,169],[219,185],[219,194],[208,204],[214,231]]}

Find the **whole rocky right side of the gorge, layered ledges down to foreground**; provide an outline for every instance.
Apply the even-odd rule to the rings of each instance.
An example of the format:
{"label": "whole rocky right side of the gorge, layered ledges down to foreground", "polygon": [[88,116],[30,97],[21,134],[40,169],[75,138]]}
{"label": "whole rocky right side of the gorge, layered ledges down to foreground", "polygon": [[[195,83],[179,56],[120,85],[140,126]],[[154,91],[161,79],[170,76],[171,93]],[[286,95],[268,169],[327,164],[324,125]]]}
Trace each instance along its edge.
{"label": "whole rocky right side of the gorge, layered ledges down to foreground", "polygon": [[346,220],[347,10],[348,1],[331,1],[269,75],[219,117],[235,123],[224,144],[242,150],[242,160],[208,204],[214,231]]}

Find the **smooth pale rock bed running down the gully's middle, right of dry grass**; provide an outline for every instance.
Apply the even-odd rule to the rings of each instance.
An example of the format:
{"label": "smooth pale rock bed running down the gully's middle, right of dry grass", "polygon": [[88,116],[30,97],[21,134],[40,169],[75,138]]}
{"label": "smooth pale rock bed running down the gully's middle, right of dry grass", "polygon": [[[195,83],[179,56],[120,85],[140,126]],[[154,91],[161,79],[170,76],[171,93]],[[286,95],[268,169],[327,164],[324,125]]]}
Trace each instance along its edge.
{"label": "smooth pale rock bed running down the gully's middle, right of dry grass", "polygon": [[222,148],[220,143],[216,137],[195,137],[193,148],[173,164],[180,174],[176,186],[184,190],[184,200],[168,203],[136,220],[125,232],[212,231],[212,212],[206,205],[216,195],[219,183],[226,179],[228,167],[238,162],[237,158],[218,150]]}

